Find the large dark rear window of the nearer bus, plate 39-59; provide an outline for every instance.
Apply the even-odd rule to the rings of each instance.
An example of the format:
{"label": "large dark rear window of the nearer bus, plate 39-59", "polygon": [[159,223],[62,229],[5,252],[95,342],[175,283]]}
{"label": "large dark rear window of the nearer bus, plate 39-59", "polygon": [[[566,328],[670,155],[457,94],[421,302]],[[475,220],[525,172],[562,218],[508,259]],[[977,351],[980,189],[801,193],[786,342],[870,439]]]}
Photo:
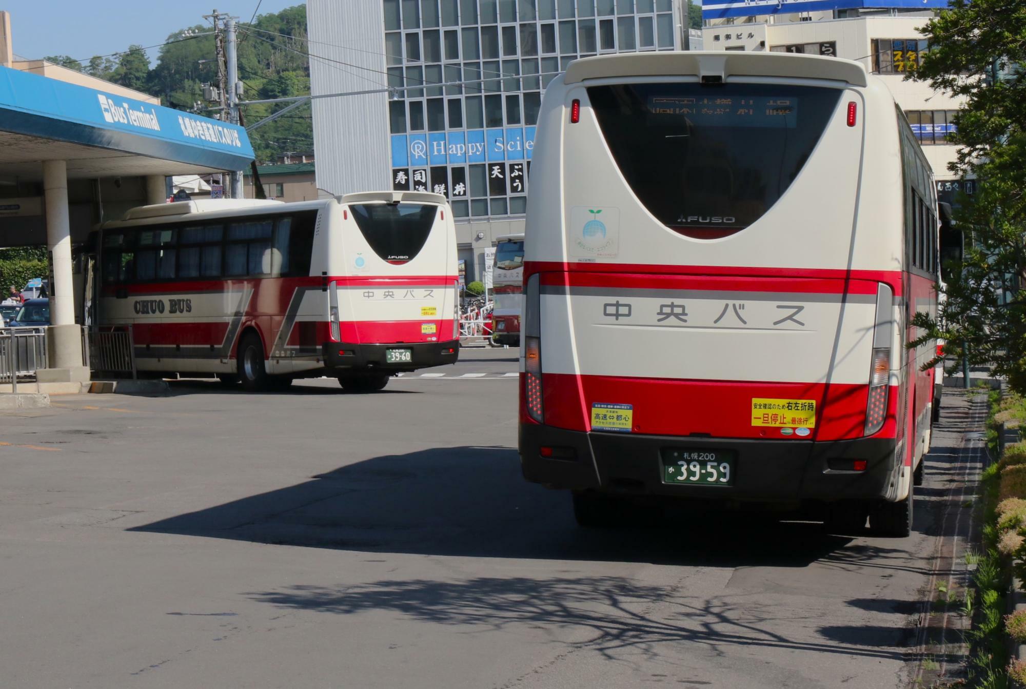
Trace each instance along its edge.
{"label": "large dark rear window of the nearer bus, plate 39-59", "polygon": [[615,84],[588,88],[602,135],[645,208],[689,237],[759,219],[808,160],[840,90]]}

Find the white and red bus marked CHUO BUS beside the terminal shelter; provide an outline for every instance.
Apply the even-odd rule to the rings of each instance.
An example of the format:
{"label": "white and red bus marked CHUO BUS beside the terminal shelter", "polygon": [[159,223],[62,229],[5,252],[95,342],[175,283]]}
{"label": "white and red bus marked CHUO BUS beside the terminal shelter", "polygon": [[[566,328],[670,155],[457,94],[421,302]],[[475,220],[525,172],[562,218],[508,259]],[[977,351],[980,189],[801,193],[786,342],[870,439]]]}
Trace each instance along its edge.
{"label": "white and red bus marked CHUO BUS beside the terminal shelter", "polygon": [[98,247],[96,321],[130,326],[140,371],[372,391],[459,357],[456,228],[435,194],[143,206]]}

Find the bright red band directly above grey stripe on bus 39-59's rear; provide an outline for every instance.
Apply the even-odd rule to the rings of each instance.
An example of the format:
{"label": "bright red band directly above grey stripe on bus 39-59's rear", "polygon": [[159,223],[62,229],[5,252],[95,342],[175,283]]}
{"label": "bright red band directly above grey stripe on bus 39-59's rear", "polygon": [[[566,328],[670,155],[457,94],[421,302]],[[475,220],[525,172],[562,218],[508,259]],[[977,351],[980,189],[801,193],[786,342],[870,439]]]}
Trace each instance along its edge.
{"label": "bright red band directly above grey stripe on bus 39-59's rear", "polygon": [[800,292],[808,294],[876,294],[874,281],[830,278],[652,275],[622,273],[543,273],[543,285],[613,287],[621,289],[694,289],[736,292]]}

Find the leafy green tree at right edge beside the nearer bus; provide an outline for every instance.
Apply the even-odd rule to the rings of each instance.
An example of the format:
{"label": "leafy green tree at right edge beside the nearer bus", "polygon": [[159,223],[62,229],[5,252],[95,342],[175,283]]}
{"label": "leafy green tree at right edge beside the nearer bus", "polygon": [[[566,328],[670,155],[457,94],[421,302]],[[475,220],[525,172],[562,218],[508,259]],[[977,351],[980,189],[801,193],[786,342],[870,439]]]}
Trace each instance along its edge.
{"label": "leafy green tree at right edge beside the nearer bus", "polygon": [[[918,341],[947,339],[946,353],[993,367],[1026,393],[1026,5],[953,0],[921,30],[931,50],[907,78],[964,98],[951,140],[960,146],[951,170],[975,176],[962,195],[956,228],[964,256],[946,261],[947,299],[939,322],[918,315]],[[945,237],[942,232],[942,249]],[[942,260],[945,255],[942,253]]]}

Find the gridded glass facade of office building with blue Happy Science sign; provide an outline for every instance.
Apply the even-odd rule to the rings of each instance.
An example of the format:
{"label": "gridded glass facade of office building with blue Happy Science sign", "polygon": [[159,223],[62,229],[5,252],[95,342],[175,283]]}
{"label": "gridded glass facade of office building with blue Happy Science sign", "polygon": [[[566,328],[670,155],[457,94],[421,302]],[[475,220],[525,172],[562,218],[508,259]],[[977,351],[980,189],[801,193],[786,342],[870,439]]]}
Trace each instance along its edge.
{"label": "gridded glass facade of office building with blue Happy Science sign", "polygon": [[[673,0],[382,0],[392,186],[458,218],[527,208],[545,87],[578,57],[672,50]],[[423,86],[423,88],[421,88]]]}

